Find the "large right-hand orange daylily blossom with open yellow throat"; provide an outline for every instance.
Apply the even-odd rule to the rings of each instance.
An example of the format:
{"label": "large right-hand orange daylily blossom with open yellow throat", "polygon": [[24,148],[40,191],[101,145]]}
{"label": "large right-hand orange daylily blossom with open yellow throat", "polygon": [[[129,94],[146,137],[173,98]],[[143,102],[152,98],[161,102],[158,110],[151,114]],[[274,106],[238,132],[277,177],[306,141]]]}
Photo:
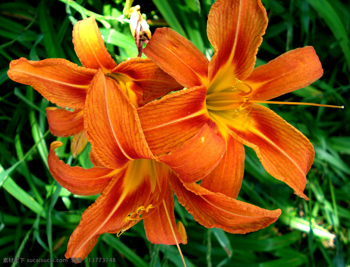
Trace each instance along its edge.
{"label": "large right-hand orange daylily blossom with open yellow throat", "polygon": [[[313,146],[300,131],[258,103],[309,85],[323,70],[309,46],[254,69],[266,27],[266,10],[260,0],[218,0],[210,9],[207,24],[215,49],[210,61],[169,28],[156,29],[143,50],[187,88],[138,108],[150,149],[159,153],[182,146],[204,124],[225,142],[223,159],[200,185],[182,177],[182,183],[171,183],[179,202],[206,227],[247,230],[245,226],[235,231],[220,226],[219,212],[210,219],[206,214],[208,198],[237,198],[244,172],[243,145],[255,150],[269,174],[308,199],[303,190],[314,159]],[[241,208],[246,205],[241,203]],[[249,231],[257,230],[254,228]]]}

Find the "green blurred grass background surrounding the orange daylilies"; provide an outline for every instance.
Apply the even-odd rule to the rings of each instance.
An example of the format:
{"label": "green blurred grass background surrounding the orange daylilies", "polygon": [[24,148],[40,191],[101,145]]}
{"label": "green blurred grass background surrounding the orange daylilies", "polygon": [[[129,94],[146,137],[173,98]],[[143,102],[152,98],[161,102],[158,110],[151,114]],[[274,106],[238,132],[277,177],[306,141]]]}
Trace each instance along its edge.
{"label": "green blurred grass background surrounding the orange daylilies", "polygon": [[[141,12],[146,13],[153,25],[163,25],[164,19],[210,57],[212,48],[205,31],[213,2],[153,0],[153,3],[135,1],[134,5],[141,5]],[[316,157],[305,191],[310,201],[296,197],[287,185],[267,174],[253,150],[247,148],[239,199],[266,209],[281,208],[282,216],[266,229],[234,235],[220,229],[205,229],[177,203],[176,217],[188,234],[188,245],[181,248],[187,266],[349,266],[350,3],[262,2],[269,26],[257,63],[263,64],[290,49],[313,45],[324,69],[319,81],[280,100],[345,105],[345,109],[270,105],[307,135],[315,147]],[[9,61],[21,56],[31,60],[64,57],[79,63],[71,42],[71,22],[93,13],[116,60],[136,56],[128,24],[117,19],[122,14],[122,1],[77,3],[80,5],[65,0],[40,1],[37,5],[24,1],[0,3],[1,264],[1,258],[64,259],[68,238],[80,215],[96,199],[96,196],[72,195],[52,178],[46,157],[48,145],[56,138],[48,133],[45,118],[45,107],[51,104],[30,86],[14,83],[6,75]],[[84,168],[91,166],[89,146],[72,160],[67,153],[68,138],[58,140],[64,143],[57,149],[61,159]],[[93,258],[103,257],[115,258],[116,262],[93,262]],[[12,266],[70,264],[70,261],[68,264],[23,262]],[[150,244],[139,223],[120,238],[104,234],[84,265],[182,266],[182,262],[175,247]]]}

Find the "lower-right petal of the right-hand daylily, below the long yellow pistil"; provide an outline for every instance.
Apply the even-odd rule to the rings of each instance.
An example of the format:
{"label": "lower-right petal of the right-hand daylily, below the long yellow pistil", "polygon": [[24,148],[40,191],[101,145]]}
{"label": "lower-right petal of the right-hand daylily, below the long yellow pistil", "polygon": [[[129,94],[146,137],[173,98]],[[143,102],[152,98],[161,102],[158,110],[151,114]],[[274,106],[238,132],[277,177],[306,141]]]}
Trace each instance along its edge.
{"label": "lower-right petal of the right-hand daylily, below the long yellow pistil", "polygon": [[229,128],[233,138],[252,147],[269,174],[308,200],[303,191],[315,156],[310,141],[272,110],[258,104],[252,105],[246,119],[232,117]]}

